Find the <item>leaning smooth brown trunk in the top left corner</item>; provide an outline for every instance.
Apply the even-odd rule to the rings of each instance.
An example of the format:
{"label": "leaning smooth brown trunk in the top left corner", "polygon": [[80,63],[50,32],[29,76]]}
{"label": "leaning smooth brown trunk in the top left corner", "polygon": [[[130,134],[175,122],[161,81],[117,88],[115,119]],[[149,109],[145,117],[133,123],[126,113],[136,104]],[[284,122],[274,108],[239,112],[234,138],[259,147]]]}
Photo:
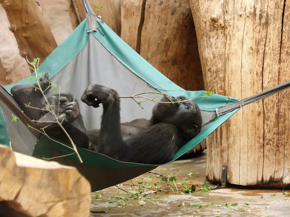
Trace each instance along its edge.
{"label": "leaning smooth brown trunk in the top left corner", "polygon": [[16,38],[20,55],[40,63],[57,47],[41,9],[34,0],[1,3],[10,22],[10,30]]}

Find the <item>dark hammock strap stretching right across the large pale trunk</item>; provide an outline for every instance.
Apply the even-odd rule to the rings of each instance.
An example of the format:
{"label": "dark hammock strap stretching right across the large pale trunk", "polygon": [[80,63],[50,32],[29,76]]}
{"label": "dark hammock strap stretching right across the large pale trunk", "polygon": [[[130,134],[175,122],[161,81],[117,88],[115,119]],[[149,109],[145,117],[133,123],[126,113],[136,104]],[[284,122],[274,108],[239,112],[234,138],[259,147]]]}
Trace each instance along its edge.
{"label": "dark hammock strap stretching right across the large pale trunk", "polygon": [[282,90],[286,90],[290,87],[290,80],[287,81],[287,82],[284,82],[282,84],[279,84],[275,87],[272,87],[268,90],[265,90],[265,91],[262,91],[261,93],[257,93],[253,96],[250,96],[244,100],[240,100],[238,102],[235,102],[233,104],[229,104],[229,105],[226,105],[226,106],[223,106],[223,107],[220,107],[220,108],[217,108],[216,109],[216,114],[217,114],[217,117],[221,116],[221,115],[224,115],[228,112],[231,112],[237,108],[241,108],[242,106],[245,106],[247,104],[250,104],[252,102],[255,102],[255,101],[258,101],[258,100],[261,100],[265,97],[268,97],[268,96],[271,96],[275,93],[278,93]]}

